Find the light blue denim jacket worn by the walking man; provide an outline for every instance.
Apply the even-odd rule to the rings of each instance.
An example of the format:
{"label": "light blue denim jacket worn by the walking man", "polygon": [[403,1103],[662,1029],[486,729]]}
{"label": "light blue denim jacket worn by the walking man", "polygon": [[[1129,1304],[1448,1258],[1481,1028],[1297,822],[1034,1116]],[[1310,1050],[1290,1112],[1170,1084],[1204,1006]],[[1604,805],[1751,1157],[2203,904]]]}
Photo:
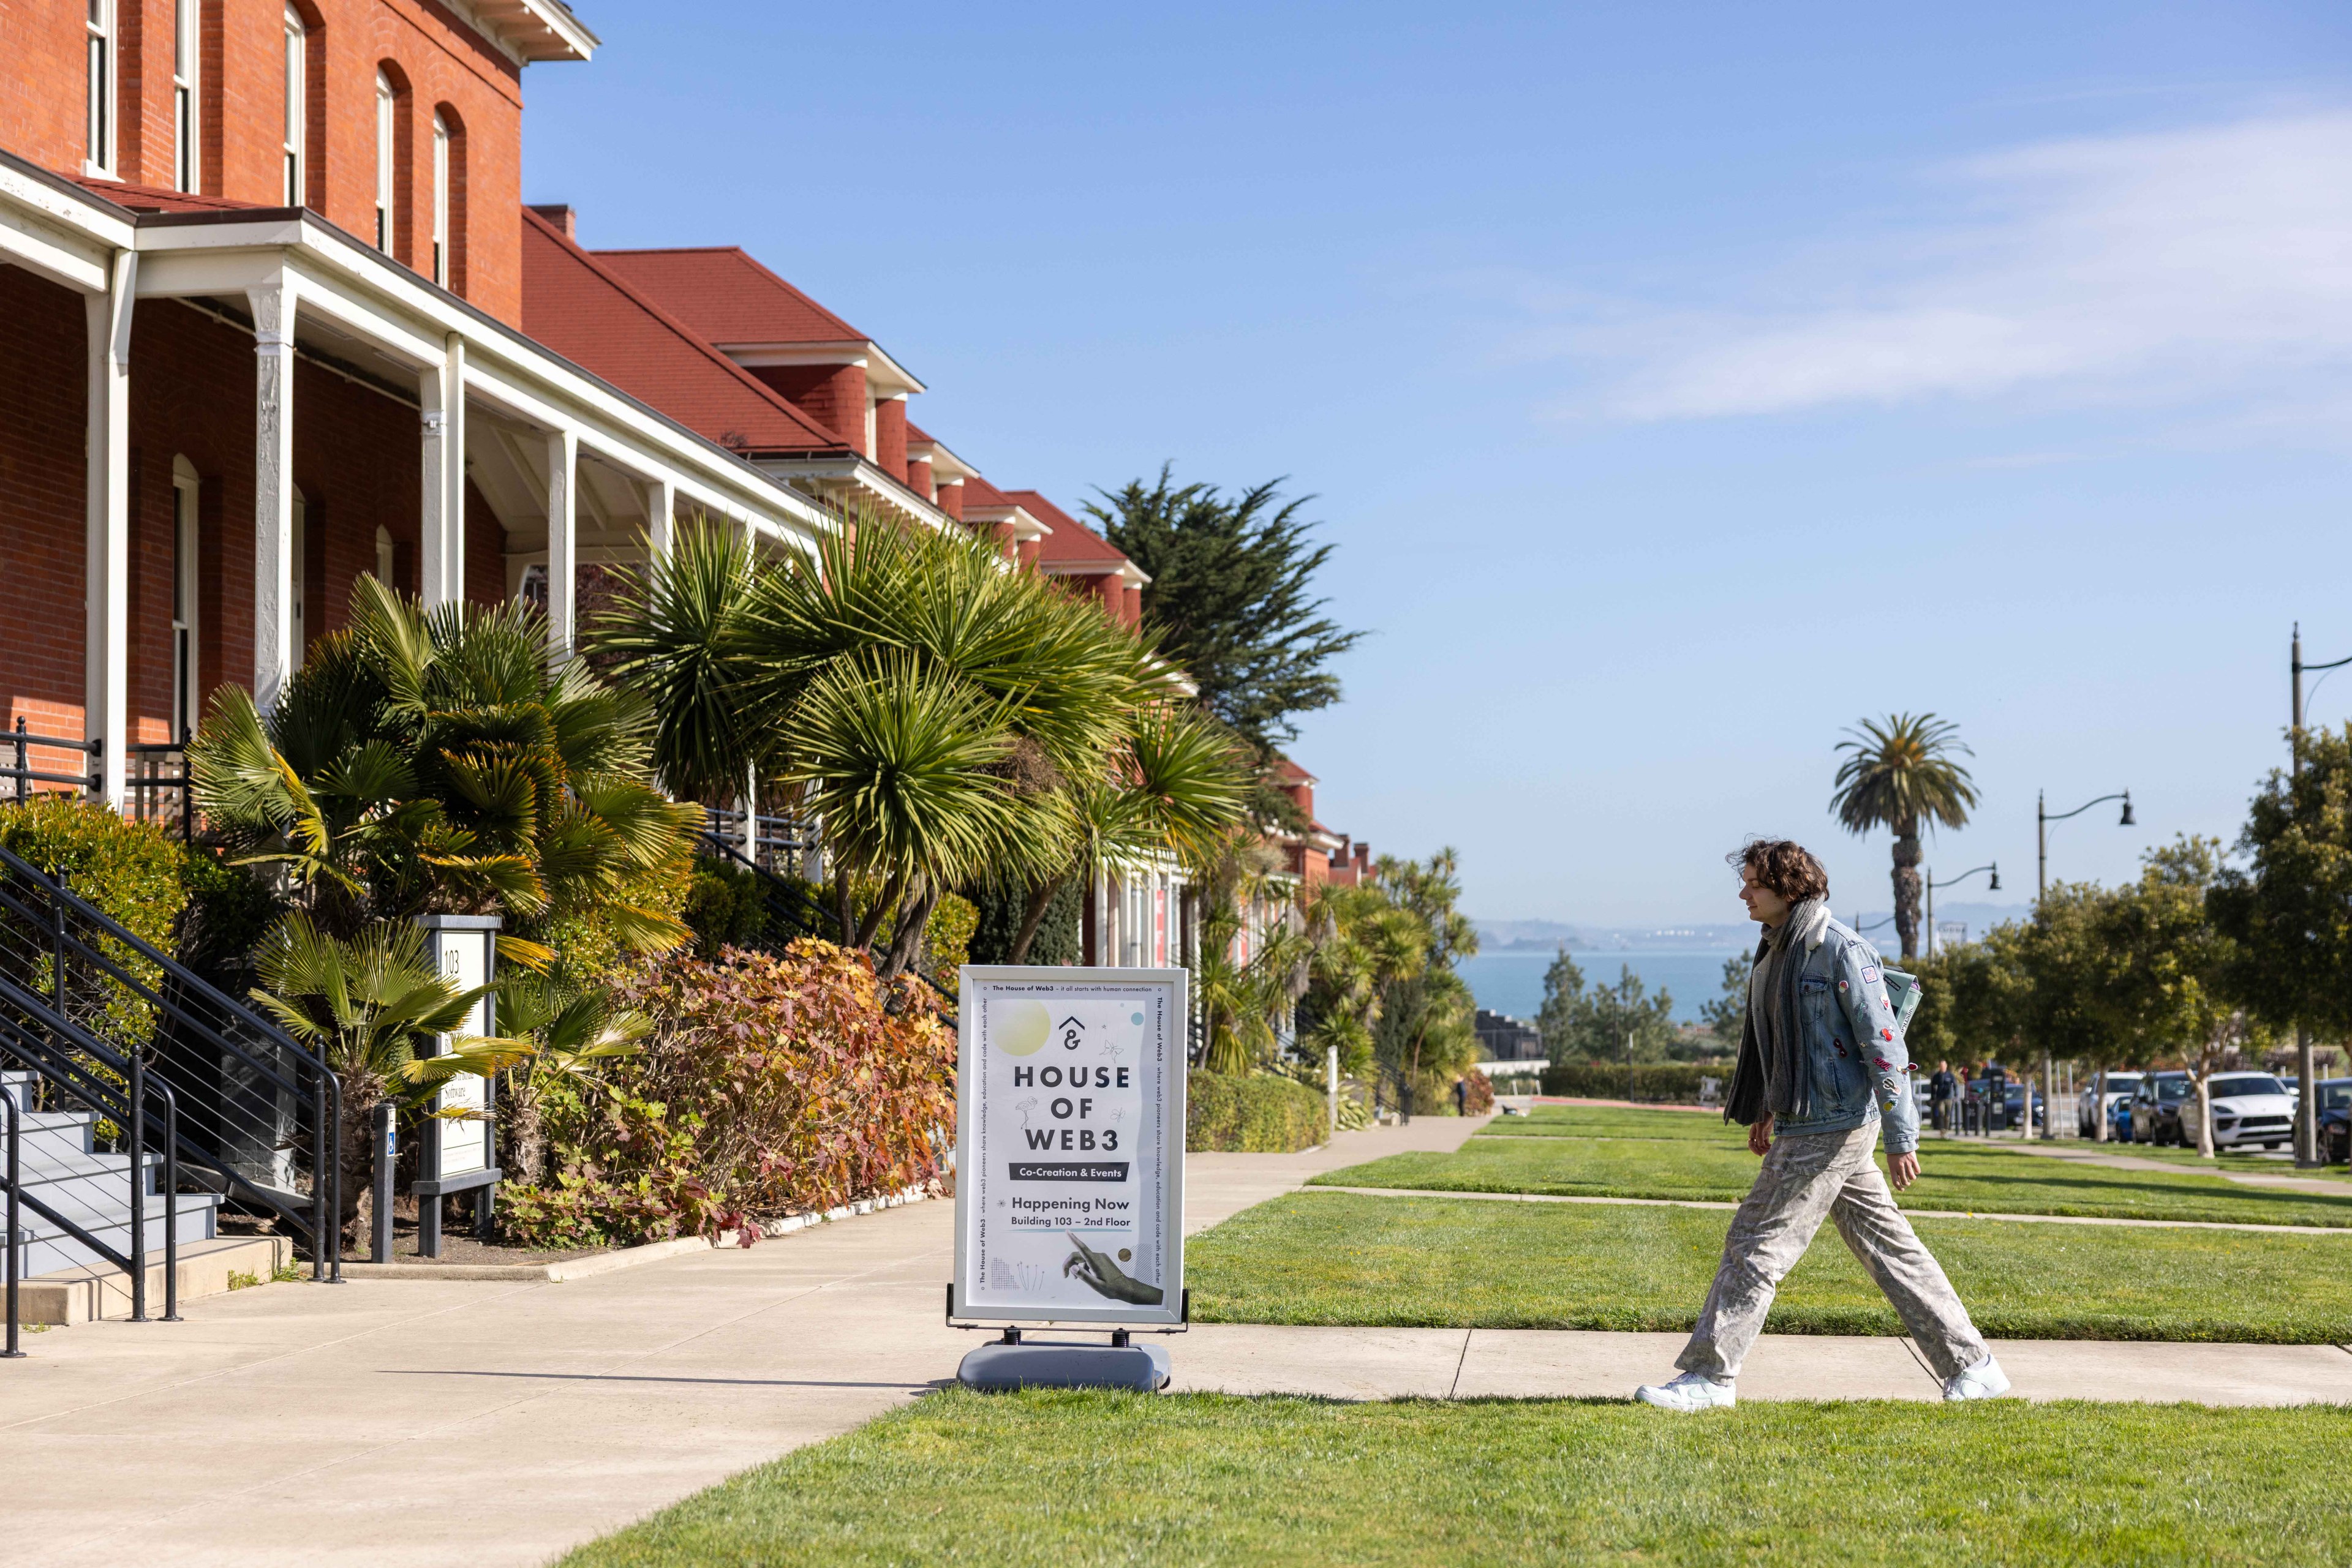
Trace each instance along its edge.
{"label": "light blue denim jacket worn by the walking man", "polygon": [[1884,1112],[1886,1152],[1910,1154],[1919,1147],[1910,1051],[1882,969],[1879,950],[1837,919],[1804,954],[1797,1001],[1813,1103],[1804,1117],[1776,1121],[1776,1133],[1851,1133]]}

